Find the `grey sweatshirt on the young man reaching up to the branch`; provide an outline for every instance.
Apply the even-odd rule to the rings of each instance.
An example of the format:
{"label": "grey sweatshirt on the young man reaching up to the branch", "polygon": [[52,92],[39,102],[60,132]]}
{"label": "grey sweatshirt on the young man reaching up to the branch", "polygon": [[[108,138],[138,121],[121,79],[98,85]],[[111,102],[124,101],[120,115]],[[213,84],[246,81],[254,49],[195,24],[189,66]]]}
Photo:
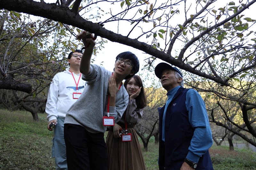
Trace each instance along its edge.
{"label": "grey sweatshirt on the young man reaching up to the branch", "polygon": [[[79,99],[68,109],[64,124],[71,123],[83,126],[91,133],[104,133],[103,116],[107,116],[108,78],[111,71],[102,66],[91,64],[90,73],[83,74],[87,85]],[[116,93],[116,107],[109,107],[109,115],[118,122],[128,105],[129,95],[122,85]]]}

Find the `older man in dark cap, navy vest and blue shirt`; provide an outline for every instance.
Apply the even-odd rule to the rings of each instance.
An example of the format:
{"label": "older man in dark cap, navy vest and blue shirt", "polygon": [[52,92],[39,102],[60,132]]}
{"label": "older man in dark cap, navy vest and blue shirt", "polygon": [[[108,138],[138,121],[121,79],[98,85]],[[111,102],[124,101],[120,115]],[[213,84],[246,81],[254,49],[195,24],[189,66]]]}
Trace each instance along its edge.
{"label": "older man in dark cap, navy vest and blue shirt", "polygon": [[167,63],[155,68],[168,100],[159,112],[159,169],[213,170],[209,148],[212,131],[204,101],[194,89],[183,88],[179,69]]}

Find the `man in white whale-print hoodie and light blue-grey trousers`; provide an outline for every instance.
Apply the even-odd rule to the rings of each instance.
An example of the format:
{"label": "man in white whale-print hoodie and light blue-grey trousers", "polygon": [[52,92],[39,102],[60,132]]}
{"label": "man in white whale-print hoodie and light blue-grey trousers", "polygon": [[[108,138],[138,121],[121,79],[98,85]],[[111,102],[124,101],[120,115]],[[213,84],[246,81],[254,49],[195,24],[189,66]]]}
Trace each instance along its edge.
{"label": "man in white whale-print hoodie and light blue-grey trousers", "polygon": [[[79,70],[82,51],[76,50],[68,55],[69,69],[57,73],[49,88],[45,112],[48,130],[53,130],[52,158],[55,158],[56,170],[67,170],[66,145],[64,140],[64,120],[69,107],[80,97],[85,81]],[[49,125],[53,123],[52,129]]]}

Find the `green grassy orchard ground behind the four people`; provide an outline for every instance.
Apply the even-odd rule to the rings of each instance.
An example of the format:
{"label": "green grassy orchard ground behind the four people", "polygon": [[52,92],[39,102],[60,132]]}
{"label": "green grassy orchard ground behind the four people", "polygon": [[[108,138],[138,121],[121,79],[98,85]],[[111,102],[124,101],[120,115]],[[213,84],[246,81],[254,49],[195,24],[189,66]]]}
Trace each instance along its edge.
{"label": "green grassy orchard ground behind the four people", "polygon": [[[34,122],[28,112],[0,109],[0,170],[55,169],[51,157],[53,133],[46,128],[46,114],[38,117],[39,122]],[[143,147],[142,152],[147,170],[157,170],[158,145],[152,140],[148,152]],[[247,150],[212,146],[210,154],[215,170],[256,169],[256,154]]]}

